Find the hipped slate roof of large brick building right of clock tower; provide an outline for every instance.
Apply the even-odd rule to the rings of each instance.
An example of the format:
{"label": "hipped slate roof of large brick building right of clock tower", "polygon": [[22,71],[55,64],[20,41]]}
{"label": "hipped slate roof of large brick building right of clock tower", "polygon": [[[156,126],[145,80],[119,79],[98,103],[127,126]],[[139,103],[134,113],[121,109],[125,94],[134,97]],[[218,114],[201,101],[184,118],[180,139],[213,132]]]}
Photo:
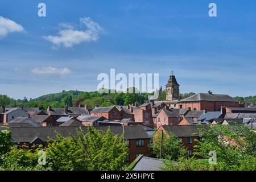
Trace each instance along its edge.
{"label": "hipped slate roof of large brick building right of clock tower", "polygon": [[209,93],[197,93],[188,98],[184,98],[179,102],[191,102],[191,101],[222,101],[222,102],[238,102],[232,97],[226,94],[209,94]]}

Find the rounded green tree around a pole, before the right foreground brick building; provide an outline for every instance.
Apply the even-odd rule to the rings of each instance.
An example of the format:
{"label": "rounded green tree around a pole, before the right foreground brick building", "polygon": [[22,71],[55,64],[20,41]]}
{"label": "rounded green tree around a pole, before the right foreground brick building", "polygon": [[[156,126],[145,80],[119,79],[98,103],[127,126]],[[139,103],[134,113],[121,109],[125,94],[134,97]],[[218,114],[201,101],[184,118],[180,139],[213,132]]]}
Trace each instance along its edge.
{"label": "rounded green tree around a pole, before the right foreground brick building", "polygon": [[[155,135],[154,140],[151,141],[149,148],[151,151],[151,156],[160,158],[160,148],[161,148],[161,135]],[[162,146],[162,158],[176,160],[179,156],[187,154],[183,143],[179,138],[176,137],[174,133],[163,132],[163,146]]]}

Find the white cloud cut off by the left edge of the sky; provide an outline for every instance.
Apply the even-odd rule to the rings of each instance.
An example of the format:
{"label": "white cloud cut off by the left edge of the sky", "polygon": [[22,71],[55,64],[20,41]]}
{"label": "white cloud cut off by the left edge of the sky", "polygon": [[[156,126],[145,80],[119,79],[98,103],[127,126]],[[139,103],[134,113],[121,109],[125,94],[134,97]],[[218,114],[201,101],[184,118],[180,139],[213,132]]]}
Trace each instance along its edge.
{"label": "white cloud cut off by the left edge of the sky", "polygon": [[7,36],[10,32],[22,31],[24,31],[24,28],[20,24],[8,18],[3,18],[3,16],[0,16],[0,39]]}

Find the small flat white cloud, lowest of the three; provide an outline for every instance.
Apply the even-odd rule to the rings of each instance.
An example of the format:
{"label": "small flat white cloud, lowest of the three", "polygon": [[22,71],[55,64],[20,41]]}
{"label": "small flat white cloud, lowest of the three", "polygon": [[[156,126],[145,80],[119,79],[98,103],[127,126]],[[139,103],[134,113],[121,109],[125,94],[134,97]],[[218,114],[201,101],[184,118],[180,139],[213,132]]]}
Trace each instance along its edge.
{"label": "small flat white cloud, lowest of the three", "polygon": [[42,68],[34,68],[32,69],[31,72],[36,75],[48,75],[48,76],[72,75],[72,71],[68,68],[42,67]]}

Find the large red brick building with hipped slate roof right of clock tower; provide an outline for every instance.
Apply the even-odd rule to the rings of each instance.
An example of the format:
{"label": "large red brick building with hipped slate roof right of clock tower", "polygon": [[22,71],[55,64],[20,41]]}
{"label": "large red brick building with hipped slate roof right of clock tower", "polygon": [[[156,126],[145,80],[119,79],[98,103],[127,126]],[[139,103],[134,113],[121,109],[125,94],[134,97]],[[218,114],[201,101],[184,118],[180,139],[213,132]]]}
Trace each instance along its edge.
{"label": "large red brick building with hipped slate roof right of clock tower", "polygon": [[239,102],[225,94],[197,93],[191,97],[179,101],[180,108],[191,110],[220,111],[221,106],[239,107]]}

